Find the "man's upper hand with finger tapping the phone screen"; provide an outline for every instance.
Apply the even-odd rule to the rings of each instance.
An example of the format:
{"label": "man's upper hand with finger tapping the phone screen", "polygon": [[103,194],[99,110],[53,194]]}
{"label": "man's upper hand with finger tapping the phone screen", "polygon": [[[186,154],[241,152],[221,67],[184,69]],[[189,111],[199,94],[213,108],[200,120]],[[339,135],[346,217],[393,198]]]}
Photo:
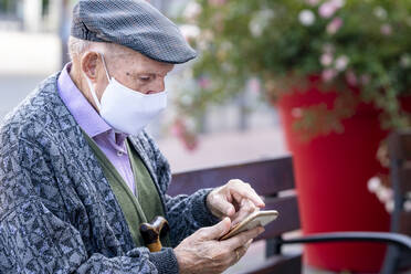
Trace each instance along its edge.
{"label": "man's upper hand with finger tapping the phone screen", "polygon": [[250,183],[235,179],[212,190],[207,197],[207,207],[217,218],[229,217],[235,225],[265,204]]}

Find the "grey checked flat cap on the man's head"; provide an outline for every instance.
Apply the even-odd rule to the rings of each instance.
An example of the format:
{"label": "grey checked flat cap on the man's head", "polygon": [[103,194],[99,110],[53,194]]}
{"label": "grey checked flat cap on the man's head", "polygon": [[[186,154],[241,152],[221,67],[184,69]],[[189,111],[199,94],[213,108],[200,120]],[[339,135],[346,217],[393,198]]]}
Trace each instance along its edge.
{"label": "grey checked flat cap on the man's head", "polygon": [[145,0],[80,0],[71,34],[125,45],[159,62],[180,64],[197,55],[178,27]]}

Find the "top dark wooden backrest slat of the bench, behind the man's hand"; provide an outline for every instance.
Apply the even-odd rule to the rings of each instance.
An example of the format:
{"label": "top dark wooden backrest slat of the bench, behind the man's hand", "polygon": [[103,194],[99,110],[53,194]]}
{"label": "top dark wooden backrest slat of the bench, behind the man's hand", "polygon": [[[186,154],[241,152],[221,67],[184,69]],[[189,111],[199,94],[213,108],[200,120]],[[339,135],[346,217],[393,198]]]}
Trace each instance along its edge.
{"label": "top dark wooden backrest slat of the bench, behind the man's hand", "polygon": [[261,196],[273,196],[278,191],[294,188],[293,160],[291,156],[287,156],[175,173],[168,193],[170,196],[191,194],[201,188],[220,187],[230,179],[250,182]]}

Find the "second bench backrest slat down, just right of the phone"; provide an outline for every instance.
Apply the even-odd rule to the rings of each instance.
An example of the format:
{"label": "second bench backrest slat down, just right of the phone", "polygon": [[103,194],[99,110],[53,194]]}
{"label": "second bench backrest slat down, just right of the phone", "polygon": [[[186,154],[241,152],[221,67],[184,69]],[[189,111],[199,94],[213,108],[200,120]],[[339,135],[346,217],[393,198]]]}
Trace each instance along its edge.
{"label": "second bench backrest slat down, just right of the phone", "polygon": [[257,240],[272,239],[301,228],[296,196],[272,198],[265,201],[264,210],[276,210],[280,214],[275,221],[265,226],[265,232]]}

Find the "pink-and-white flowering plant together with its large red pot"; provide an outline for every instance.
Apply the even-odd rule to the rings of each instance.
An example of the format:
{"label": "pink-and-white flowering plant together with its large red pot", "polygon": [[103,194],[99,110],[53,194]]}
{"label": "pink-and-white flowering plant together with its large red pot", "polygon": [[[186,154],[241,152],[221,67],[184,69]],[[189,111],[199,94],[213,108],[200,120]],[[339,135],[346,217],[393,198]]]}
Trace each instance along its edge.
{"label": "pink-and-white flowering plant together with its large red pot", "polygon": [[[179,117],[199,117],[257,80],[294,156],[304,232],[389,230],[367,181],[387,172],[376,155],[389,130],[411,120],[411,2],[197,0],[182,18],[200,59]],[[344,257],[352,271],[375,272],[383,252],[327,244],[305,254],[315,266],[339,271]]]}

